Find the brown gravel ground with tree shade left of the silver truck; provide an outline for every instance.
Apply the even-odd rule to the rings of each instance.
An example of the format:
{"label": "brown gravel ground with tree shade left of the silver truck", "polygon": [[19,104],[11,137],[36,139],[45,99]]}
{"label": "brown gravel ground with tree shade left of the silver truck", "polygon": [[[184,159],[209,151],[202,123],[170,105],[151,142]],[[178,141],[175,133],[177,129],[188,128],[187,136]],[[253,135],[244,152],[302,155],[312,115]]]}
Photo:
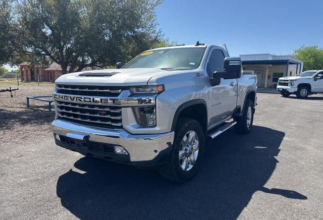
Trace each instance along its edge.
{"label": "brown gravel ground with tree shade left of the silver truck", "polygon": [[18,144],[50,134],[54,112],[48,112],[47,102],[36,100],[30,100],[30,108],[27,109],[26,96],[49,95],[52,90],[53,85],[28,85],[19,86],[15,97],[10,97],[9,92],[0,93],[0,146]]}

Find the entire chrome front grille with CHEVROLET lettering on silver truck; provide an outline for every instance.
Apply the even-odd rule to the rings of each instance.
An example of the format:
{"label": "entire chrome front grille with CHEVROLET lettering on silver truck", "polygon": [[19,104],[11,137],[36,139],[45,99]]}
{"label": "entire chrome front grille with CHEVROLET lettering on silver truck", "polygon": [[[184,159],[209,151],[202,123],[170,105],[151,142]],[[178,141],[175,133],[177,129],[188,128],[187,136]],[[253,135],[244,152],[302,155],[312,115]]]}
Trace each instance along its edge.
{"label": "entire chrome front grille with CHEVROLET lettering on silver truck", "polygon": [[133,96],[129,87],[57,85],[52,97],[58,118],[121,130],[122,107],[155,105],[156,94]]}

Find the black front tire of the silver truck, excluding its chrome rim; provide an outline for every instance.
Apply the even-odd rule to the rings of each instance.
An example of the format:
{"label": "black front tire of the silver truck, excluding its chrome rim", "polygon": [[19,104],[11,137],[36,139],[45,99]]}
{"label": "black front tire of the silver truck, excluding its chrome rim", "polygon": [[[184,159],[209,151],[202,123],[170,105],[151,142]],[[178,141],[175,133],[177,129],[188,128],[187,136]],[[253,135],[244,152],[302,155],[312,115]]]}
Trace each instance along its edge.
{"label": "black front tire of the silver truck, excluding its chrome rim", "polygon": [[[194,166],[191,170],[184,171],[180,166],[179,151],[182,139],[184,135],[186,135],[189,131],[194,131],[196,133],[198,137],[199,148],[198,156],[196,158]],[[204,132],[200,123],[189,118],[179,118],[175,129],[175,138],[172,151],[169,154],[166,164],[158,168],[160,175],[168,180],[179,183],[189,181],[196,175],[197,171],[199,170],[200,164],[203,159],[204,147]]]}

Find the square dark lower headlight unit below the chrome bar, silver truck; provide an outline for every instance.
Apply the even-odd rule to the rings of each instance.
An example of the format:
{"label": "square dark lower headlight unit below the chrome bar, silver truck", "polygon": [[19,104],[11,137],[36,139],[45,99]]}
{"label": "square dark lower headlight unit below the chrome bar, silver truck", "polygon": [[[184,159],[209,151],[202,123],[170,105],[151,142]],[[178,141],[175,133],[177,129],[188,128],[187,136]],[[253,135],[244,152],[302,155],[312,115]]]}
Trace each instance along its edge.
{"label": "square dark lower headlight unit below the chrome bar, silver truck", "polygon": [[156,126],[155,106],[134,107],[133,109],[139,125],[150,127]]}

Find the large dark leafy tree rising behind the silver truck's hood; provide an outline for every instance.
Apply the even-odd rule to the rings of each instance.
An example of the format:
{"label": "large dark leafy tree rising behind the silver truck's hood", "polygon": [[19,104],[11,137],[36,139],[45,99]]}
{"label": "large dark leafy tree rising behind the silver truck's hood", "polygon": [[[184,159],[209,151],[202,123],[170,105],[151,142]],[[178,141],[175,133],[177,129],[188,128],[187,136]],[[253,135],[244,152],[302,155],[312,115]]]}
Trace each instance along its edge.
{"label": "large dark leafy tree rising behind the silver truck's hood", "polygon": [[126,62],[160,41],[161,0],[21,0],[17,51],[49,58],[62,73]]}

